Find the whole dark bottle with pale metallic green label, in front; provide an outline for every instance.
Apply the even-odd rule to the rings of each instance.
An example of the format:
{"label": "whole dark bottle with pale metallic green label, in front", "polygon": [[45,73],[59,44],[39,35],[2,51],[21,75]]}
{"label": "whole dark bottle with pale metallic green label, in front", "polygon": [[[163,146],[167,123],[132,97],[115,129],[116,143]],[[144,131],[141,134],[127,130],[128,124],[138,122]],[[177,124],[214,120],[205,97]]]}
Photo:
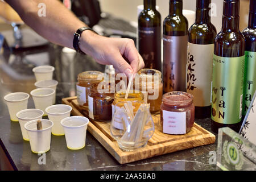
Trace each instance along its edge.
{"label": "whole dark bottle with pale metallic green label, in front", "polygon": [[224,0],[222,30],[213,55],[212,130],[239,131],[242,120],[245,39],[239,30],[240,1]]}

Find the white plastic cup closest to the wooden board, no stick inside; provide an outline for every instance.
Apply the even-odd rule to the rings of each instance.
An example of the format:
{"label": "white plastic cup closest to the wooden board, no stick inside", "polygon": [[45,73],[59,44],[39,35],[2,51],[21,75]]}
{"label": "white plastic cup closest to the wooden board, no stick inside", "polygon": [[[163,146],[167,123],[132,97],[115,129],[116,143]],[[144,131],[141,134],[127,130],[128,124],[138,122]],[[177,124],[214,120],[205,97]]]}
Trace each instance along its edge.
{"label": "white plastic cup closest to the wooden board, no stick inside", "polygon": [[62,119],[60,123],[64,128],[67,147],[71,150],[84,148],[89,119],[72,116]]}

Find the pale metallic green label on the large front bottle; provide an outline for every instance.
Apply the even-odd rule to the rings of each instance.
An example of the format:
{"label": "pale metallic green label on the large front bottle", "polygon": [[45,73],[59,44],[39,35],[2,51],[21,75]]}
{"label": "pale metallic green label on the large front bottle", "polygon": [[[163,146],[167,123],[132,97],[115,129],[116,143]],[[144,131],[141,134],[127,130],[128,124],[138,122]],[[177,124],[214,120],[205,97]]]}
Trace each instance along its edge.
{"label": "pale metallic green label on the large front bottle", "polygon": [[242,118],[245,56],[213,55],[212,119],[236,124]]}

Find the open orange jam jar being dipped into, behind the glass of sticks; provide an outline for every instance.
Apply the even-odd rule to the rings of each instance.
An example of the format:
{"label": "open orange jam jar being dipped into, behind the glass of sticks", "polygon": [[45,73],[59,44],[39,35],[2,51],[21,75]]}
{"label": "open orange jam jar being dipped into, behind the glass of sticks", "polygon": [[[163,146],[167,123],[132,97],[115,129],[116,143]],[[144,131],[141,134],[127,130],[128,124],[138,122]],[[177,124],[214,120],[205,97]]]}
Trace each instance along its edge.
{"label": "open orange jam jar being dipped into, behind the glass of sticks", "polygon": [[[125,105],[125,103],[127,103],[128,101],[130,101],[131,104],[133,105],[133,113],[135,115],[139,109],[139,106],[141,106],[141,104],[146,103],[143,101],[143,98],[144,97],[141,92],[129,93],[127,99],[125,99],[125,93],[123,91],[119,91],[119,92],[115,93],[114,102],[112,104],[112,116],[114,115],[115,110],[122,108]],[[113,126],[120,130],[123,129],[122,122],[115,121],[113,123]]]}

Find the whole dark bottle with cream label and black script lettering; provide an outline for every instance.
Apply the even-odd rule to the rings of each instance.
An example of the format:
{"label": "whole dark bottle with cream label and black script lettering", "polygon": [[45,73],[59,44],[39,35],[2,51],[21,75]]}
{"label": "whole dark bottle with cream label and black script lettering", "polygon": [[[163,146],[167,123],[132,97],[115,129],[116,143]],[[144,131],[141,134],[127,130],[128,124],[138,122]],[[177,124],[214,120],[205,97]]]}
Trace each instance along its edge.
{"label": "whole dark bottle with cream label and black script lettering", "polygon": [[195,117],[210,118],[212,60],[216,28],[210,22],[211,0],[196,1],[196,22],[188,31],[187,92],[194,96]]}

